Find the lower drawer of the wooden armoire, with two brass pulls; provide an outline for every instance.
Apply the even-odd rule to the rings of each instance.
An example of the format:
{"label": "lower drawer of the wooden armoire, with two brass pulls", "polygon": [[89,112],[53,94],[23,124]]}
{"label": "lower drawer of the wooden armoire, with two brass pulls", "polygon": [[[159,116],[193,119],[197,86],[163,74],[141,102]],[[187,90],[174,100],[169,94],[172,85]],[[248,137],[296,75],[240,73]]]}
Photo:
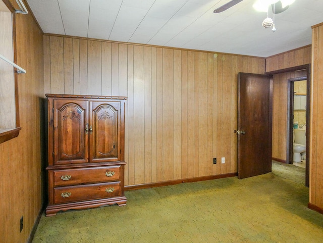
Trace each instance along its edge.
{"label": "lower drawer of the wooden armoire, with two brass pulls", "polygon": [[53,188],[53,190],[54,204],[111,198],[121,195],[120,182],[62,186]]}

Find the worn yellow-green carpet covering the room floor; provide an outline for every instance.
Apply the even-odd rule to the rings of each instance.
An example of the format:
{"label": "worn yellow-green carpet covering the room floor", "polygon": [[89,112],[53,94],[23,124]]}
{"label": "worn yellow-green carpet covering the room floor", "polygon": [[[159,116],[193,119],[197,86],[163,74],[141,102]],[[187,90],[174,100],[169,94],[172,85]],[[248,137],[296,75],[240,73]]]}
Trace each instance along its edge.
{"label": "worn yellow-green carpet covering the room floor", "polygon": [[42,215],[32,243],[323,242],[308,188],[277,171],[126,191],[124,207]]}

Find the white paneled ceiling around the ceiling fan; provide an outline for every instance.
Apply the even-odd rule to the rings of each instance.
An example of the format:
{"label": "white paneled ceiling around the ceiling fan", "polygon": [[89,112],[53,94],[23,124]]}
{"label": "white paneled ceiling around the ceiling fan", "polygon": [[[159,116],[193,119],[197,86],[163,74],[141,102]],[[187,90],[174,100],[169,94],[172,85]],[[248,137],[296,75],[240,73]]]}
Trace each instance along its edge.
{"label": "white paneled ceiling around the ceiling fan", "polygon": [[[323,22],[323,0],[296,0],[275,15],[244,0],[26,0],[44,33],[193,50],[268,57],[311,44],[311,26]],[[273,18],[273,13],[270,12]]]}

